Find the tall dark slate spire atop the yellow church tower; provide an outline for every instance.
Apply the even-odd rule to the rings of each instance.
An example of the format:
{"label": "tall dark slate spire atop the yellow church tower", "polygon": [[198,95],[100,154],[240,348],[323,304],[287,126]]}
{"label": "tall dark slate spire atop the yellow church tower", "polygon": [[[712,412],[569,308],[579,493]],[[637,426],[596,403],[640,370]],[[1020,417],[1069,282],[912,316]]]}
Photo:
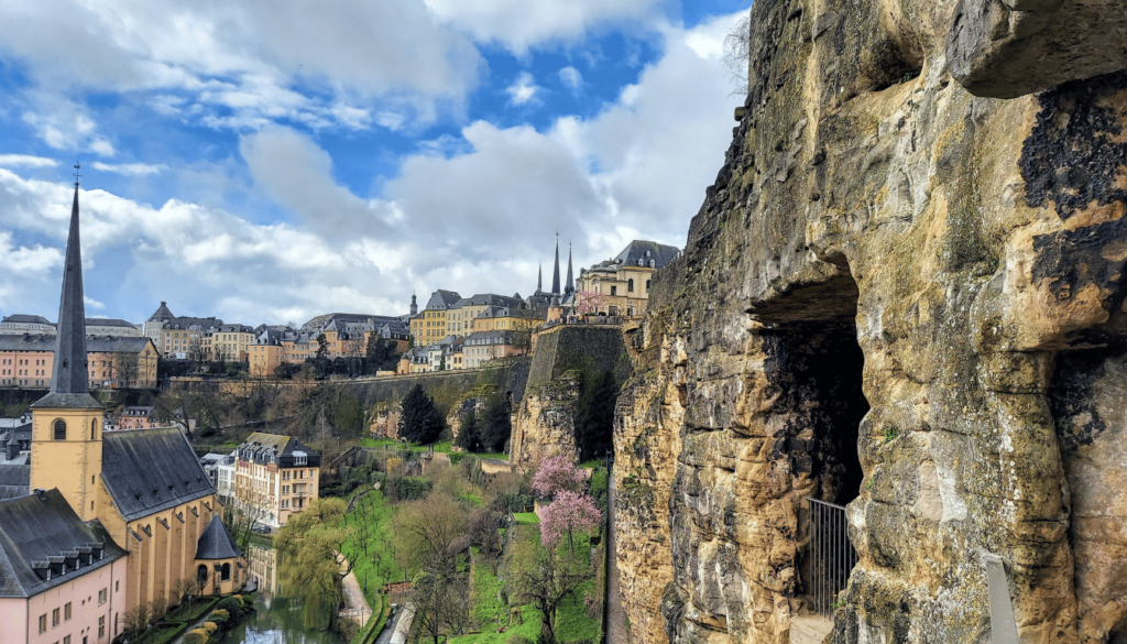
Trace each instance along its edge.
{"label": "tall dark slate spire atop the yellow church tower", "polygon": [[74,205],[71,208],[71,229],[63,264],[63,294],[59,302],[52,394],[90,392],[86,362],[86,303],[82,300],[82,245],[78,228],[78,182],[74,182]]}

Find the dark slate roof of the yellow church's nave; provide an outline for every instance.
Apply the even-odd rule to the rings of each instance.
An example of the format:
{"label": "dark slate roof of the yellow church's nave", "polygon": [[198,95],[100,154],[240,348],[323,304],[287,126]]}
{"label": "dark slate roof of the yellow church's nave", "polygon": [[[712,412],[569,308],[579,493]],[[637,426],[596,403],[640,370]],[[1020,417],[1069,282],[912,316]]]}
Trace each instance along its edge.
{"label": "dark slate roof of the yellow church's nave", "polygon": [[101,479],[126,521],[215,493],[178,427],[103,434]]}

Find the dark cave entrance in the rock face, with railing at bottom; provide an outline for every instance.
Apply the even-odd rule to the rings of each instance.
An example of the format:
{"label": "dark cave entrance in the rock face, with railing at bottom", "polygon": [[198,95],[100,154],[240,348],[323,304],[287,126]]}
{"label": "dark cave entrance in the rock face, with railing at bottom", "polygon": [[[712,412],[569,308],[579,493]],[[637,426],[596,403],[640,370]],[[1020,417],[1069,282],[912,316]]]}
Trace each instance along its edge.
{"label": "dark cave entrance in the rock face, with railing at bottom", "polygon": [[789,464],[796,485],[809,488],[798,509],[796,593],[831,618],[857,563],[844,506],[864,482],[859,436],[869,402],[858,297],[846,268],[827,283],[749,311],[766,325],[765,372],[777,388],[775,412],[786,418],[774,458]]}

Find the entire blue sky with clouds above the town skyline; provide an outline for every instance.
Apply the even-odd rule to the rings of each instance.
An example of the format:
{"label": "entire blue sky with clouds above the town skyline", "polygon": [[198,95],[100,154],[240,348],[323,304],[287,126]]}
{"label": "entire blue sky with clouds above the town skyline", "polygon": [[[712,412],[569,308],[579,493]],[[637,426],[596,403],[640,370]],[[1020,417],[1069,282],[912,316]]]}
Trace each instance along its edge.
{"label": "entire blue sky with clouds above the town skyline", "polygon": [[[0,2],[0,315],[301,323],[682,246],[744,1]],[[566,248],[565,248],[566,253]]]}

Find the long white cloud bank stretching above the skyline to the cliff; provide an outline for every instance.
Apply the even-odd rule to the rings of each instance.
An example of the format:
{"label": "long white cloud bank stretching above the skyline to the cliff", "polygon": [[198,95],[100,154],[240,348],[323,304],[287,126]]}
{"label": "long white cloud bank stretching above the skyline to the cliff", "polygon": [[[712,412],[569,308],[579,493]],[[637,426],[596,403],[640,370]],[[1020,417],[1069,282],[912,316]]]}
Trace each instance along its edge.
{"label": "long white cloud bank stretching above the skyline to the cliff", "polygon": [[[551,273],[557,230],[575,240],[577,268],[632,238],[681,246],[730,140],[734,100],[709,43],[735,18],[665,28],[659,60],[595,116],[544,131],[471,123],[420,144],[378,194],[340,185],[313,138],[276,125],[242,135],[246,168],[229,159],[168,173],[196,203],[85,191],[87,291],[110,317],[133,320],[167,300],[180,315],[303,321],[329,310],[403,312],[412,290],[527,294],[539,262]],[[0,272],[0,308],[57,306],[71,194],[0,167],[0,256],[23,271]],[[260,218],[263,199],[293,223],[218,205]],[[34,245],[43,239],[54,244]]]}

